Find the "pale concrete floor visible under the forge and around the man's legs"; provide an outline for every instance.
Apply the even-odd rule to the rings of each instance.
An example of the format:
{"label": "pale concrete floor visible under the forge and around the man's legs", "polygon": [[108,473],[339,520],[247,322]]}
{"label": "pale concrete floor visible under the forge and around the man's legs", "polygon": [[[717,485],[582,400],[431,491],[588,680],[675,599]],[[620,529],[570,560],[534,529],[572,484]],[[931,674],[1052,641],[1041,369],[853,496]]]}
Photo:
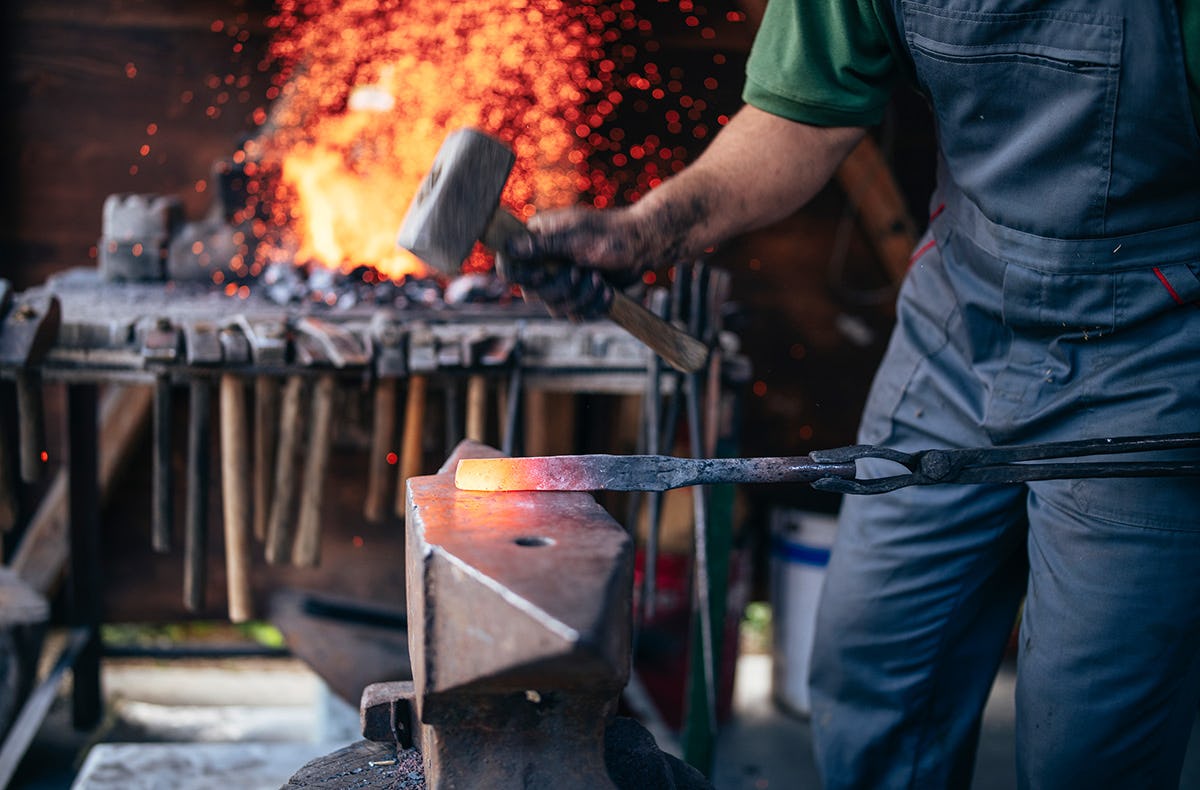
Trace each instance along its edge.
{"label": "pale concrete floor visible under the forge and around the man's legs", "polygon": [[[774,702],[770,662],[739,660],[716,790],[818,788],[808,720]],[[1016,786],[1013,686],[1006,665],[984,713],[972,790]],[[104,688],[104,725],[76,734],[60,700],[11,790],[274,790],[307,760],[358,740],[356,711],[290,659],[110,660]],[[1198,732],[1181,788],[1200,789]]]}

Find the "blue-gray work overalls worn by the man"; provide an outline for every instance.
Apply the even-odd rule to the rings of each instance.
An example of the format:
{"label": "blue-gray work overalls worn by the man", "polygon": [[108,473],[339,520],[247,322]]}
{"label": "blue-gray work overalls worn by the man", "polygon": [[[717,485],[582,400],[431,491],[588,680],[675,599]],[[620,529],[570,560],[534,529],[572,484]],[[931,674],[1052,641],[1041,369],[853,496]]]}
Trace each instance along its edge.
{"label": "blue-gray work overalls worn by the man", "polygon": [[[941,172],[860,441],[1200,431],[1200,136],[1175,0],[894,13]],[[811,674],[826,785],[968,786],[1022,600],[1022,786],[1177,786],[1200,702],[1196,478],[847,497]]]}

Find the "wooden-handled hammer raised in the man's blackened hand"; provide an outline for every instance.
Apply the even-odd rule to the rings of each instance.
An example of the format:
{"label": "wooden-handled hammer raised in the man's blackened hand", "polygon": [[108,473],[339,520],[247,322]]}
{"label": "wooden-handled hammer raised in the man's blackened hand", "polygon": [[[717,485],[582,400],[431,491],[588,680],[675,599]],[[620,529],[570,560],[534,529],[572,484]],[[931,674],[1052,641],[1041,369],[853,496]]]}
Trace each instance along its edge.
{"label": "wooden-handled hammer raised in the man's blackened hand", "polygon": [[[528,233],[524,223],[499,204],[515,161],[508,146],[479,130],[451,132],[408,208],[397,244],[443,274],[454,275],[476,240],[503,250],[509,239]],[[608,318],[672,367],[691,372],[704,365],[704,343],[619,291],[612,291],[606,301]]]}

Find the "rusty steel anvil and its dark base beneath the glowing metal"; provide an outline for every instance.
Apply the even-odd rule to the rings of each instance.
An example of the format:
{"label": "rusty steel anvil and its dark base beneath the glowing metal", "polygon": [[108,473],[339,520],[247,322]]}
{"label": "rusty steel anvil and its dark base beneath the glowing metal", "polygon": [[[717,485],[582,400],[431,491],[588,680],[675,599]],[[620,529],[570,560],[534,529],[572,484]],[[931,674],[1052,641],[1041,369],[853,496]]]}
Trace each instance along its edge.
{"label": "rusty steel anvil and its dark base beneath the glowing metal", "polygon": [[288,788],[708,789],[616,716],[631,664],[634,544],[574,492],[460,491],[463,442],[408,481],[413,681],[362,694],[364,741]]}

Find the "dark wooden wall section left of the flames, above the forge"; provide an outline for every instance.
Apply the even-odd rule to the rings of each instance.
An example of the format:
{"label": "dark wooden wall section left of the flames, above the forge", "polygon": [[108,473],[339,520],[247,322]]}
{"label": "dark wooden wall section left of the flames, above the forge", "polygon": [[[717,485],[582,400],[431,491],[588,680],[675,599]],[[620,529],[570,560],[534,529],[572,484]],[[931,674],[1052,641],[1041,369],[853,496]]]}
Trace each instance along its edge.
{"label": "dark wooden wall section left of the flames, above the forge", "polygon": [[0,276],[25,288],[94,264],[110,193],[180,194],[203,214],[209,196],[194,185],[234,151],[262,103],[269,8],[263,0],[5,4]]}

